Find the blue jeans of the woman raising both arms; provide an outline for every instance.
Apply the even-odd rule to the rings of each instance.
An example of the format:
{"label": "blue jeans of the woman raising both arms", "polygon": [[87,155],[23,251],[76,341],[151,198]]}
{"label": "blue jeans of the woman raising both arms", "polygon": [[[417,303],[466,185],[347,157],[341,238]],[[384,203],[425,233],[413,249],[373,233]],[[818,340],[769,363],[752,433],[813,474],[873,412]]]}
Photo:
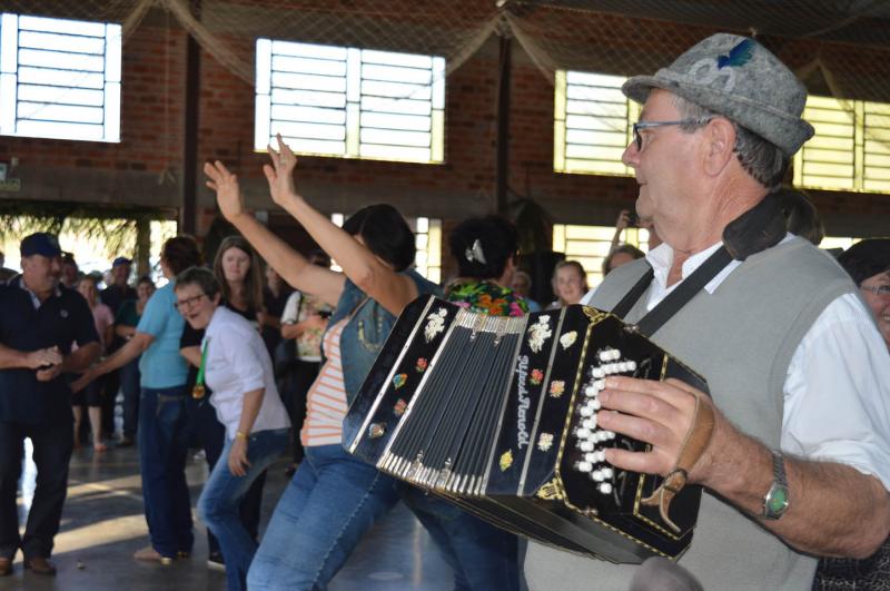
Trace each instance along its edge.
{"label": "blue jeans of the woman raising both arms", "polygon": [[395,481],[339,445],[306,447],[247,575],[251,591],[323,591],[376,520]]}

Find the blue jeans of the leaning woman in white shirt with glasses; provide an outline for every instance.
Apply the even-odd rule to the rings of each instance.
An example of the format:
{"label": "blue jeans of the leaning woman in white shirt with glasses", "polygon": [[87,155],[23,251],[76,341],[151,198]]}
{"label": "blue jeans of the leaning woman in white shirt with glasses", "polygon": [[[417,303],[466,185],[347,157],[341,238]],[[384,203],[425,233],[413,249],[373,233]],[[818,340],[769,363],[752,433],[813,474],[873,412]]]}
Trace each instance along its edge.
{"label": "blue jeans of the leaning woman in white shirt with glasses", "polygon": [[198,499],[198,516],[214,532],[222,558],[226,559],[226,580],[229,591],[247,589],[247,569],[257,551],[254,536],[241,523],[239,506],[250,485],[275,462],[287,447],[287,429],[253,433],[247,444],[250,467],[244,476],[229,470],[229,453],[233,440],[226,437],[222,453],[204,485]]}

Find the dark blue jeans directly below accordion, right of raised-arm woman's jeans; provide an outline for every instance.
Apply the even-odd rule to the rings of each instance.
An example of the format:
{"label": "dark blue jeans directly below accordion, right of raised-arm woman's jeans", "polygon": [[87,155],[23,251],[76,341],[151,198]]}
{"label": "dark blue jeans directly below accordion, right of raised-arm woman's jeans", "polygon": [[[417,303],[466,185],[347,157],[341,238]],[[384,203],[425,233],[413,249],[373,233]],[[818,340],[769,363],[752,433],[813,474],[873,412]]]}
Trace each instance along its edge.
{"label": "dark blue jeans directly below accordion, right of raised-arm woman's jeans", "polygon": [[516,536],[421,489],[399,483],[402,499],[454,570],[455,591],[520,588]]}

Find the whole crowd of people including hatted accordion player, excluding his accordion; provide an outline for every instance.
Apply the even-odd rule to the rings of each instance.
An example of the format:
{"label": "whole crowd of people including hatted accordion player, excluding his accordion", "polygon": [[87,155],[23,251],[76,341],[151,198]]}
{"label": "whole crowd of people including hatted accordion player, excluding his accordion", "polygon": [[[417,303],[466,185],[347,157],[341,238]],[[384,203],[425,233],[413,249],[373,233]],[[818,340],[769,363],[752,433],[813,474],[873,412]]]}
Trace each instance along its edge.
{"label": "whole crowd of people including hatted accordion player, excluding his accordion", "polygon": [[[738,59],[726,66],[726,55]],[[494,316],[541,305],[527,297],[505,218],[456,226],[456,276],[433,284],[413,268],[415,236],[399,211],[372,205],[335,225],[297,189],[297,157],[279,137],[264,173],[273,200],[319,246],[308,256],[245,208],[220,161],[205,165],[207,185],[239,235],[209,266],[194,238],[170,238],[157,289],[148,278],[131,287],[131,262],[118,258],[99,290],[55,236],[21,242],[22,273],[0,286],[0,575],[19,550],[26,569],[55,574],[68,462],[87,423],[93,452],[106,450],[120,391],[119,444],[138,443],[150,539],[134,558],[191,553],[185,467],[198,445],[209,470],[198,518],[230,590],[326,589],[398,502],[458,590],[515,590],[523,578],[532,590],[886,583],[888,561],[876,556],[890,553],[890,239],[835,260],[818,249],[812,204],[777,190],[812,127],[803,87],[758,42],[710,37],[623,90],[643,105],[624,152],[636,213],[620,214],[594,289],[578,262],[556,265],[547,308],[612,311],[634,294],[624,319],[706,378],[710,395],[614,376],[600,395],[601,427],[650,449],[609,450],[612,465],[704,487],[679,561],[612,564],[534,542],[523,552],[514,534],[344,451],[347,408],[408,303],[434,294]],[[631,225],[649,230],[646,253],[620,242]],[[681,465],[700,405],[713,432]],[[26,437],[38,480],[21,536]],[[283,454],[293,477],[260,535],[266,471]]]}

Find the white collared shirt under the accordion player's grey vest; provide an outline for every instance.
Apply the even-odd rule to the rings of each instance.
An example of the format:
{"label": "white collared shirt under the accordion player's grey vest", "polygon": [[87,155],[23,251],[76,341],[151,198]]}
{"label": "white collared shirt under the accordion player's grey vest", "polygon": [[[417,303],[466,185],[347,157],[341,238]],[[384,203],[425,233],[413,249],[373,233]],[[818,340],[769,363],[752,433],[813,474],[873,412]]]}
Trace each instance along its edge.
{"label": "white collared shirt under the accordion player's grey vest", "polygon": [[[785,236],[784,242],[792,238]],[[662,244],[646,254],[654,279],[651,311],[722,243],[683,262],[682,279],[668,286],[673,249]],[[708,285],[713,294],[742,263],[732,260]],[[595,289],[582,304],[589,304]],[[828,460],[873,474],[890,490],[890,353],[871,313],[854,294],[831,302],[801,339],[784,383],[782,451]]]}

